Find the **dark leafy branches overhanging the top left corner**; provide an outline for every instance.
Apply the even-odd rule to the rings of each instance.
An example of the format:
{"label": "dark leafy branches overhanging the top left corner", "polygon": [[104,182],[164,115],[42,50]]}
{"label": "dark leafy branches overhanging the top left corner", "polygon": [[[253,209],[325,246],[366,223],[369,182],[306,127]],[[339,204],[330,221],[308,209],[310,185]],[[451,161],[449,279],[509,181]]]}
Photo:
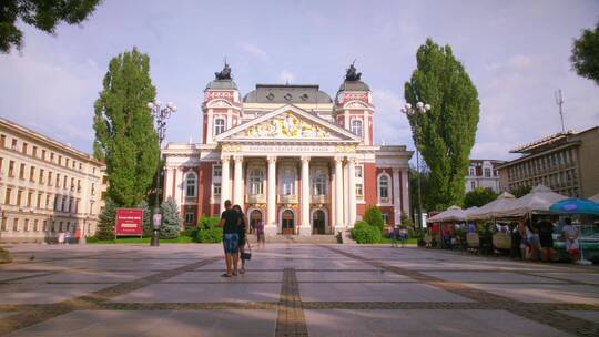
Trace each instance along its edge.
{"label": "dark leafy branches overhanging the top left corner", "polygon": [[21,49],[23,32],[18,20],[53,34],[60,22],[78,24],[95,9],[100,0],[2,0],[0,1],[0,52]]}

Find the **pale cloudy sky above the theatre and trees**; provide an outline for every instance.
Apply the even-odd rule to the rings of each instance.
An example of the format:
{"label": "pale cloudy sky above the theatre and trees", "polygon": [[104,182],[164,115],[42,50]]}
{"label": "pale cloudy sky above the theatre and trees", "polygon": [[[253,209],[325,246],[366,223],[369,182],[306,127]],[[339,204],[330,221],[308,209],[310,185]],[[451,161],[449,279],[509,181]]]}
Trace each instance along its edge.
{"label": "pale cloudy sky above the theatre and trees", "polygon": [[376,105],[375,141],[413,147],[404,82],[427,37],[450,44],[478,89],[471,157],[510,159],[518,144],[599,124],[599,86],[569,63],[572,40],[599,21],[599,1],[118,1],[49,35],[19,24],[21,52],[0,54],[0,115],[91,151],[93,102],[110,59],[150,54],[162,101],[179,111],[167,141],[200,139],[205,84],[226,57],[242,94],[256,83],[317,83],[334,96],[357,59]]}

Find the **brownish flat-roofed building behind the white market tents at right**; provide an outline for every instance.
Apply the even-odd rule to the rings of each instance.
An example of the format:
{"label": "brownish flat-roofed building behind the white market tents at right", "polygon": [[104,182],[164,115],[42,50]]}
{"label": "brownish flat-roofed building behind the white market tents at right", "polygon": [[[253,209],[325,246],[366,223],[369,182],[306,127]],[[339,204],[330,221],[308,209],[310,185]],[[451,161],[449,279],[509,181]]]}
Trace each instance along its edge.
{"label": "brownish flat-roofed building behind the white market tents at right", "polygon": [[498,167],[502,191],[544,184],[572,197],[599,193],[599,126],[558,133],[511,152],[522,156]]}

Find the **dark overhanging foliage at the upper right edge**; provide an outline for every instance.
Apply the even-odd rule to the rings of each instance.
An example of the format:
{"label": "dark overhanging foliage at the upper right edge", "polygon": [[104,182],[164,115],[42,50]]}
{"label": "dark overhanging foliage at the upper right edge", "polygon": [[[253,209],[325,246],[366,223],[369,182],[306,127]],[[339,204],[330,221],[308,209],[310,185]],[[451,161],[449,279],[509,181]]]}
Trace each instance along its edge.
{"label": "dark overhanging foliage at the upper right edge", "polygon": [[586,29],[575,40],[570,61],[576,73],[599,85],[599,22],[595,30]]}

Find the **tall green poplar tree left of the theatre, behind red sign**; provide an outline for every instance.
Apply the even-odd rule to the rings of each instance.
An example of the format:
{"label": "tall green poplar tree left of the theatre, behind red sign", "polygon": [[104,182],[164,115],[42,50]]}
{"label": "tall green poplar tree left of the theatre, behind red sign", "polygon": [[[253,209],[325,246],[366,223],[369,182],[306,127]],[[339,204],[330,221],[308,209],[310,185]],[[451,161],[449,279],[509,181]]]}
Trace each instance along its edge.
{"label": "tall green poplar tree left of the theatre, behind red sign", "polygon": [[133,48],[110,61],[94,104],[93,154],[106,162],[108,195],[121,206],[140,203],[156,174],[160,147],[146,108],[155,94],[146,54]]}

